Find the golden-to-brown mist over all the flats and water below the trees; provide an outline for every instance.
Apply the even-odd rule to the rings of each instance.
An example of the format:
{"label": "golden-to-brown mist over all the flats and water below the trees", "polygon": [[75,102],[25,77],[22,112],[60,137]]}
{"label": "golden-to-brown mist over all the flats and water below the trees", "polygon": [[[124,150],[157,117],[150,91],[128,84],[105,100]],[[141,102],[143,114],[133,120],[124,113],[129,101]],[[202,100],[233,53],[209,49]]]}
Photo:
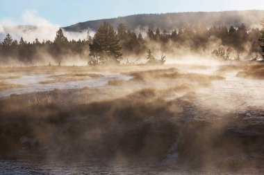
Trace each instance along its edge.
{"label": "golden-to-brown mist over all the flats and water below the trees", "polygon": [[[6,83],[24,86],[1,90],[2,96],[13,94],[1,100],[0,112],[6,116],[1,127],[24,126],[25,121],[29,127],[14,133],[1,172],[262,172],[264,100],[259,89],[264,81],[238,77],[247,64],[179,63],[67,70],[47,66],[32,75],[30,68],[8,68],[9,76],[3,71]],[[60,73],[53,74],[53,68]],[[6,108],[10,104],[13,111]],[[40,114],[46,108],[49,112]],[[14,117],[17,124],[8,119]],[[251,146],[252,139],[258,147]]]}

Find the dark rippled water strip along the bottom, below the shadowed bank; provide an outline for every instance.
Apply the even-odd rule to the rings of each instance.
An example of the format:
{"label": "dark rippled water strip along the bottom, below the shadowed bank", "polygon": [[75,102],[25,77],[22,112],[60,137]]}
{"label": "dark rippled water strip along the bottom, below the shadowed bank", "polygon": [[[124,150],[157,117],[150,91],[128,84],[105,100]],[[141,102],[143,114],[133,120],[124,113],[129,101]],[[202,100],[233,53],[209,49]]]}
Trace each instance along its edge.
{"label": "dark rippled water strip along the bottom, below the shadowed bank", "polygon": [[[238,172],[220,172],[219,170],[193,171],[187,167],[156,167],[153,165],[136,164],[119,164],[117,163],[98,163],[95,162],[71,162],[44,163],[39,161],[28,160],[0,160],[0,175],[2,174],[149,174],[149,175],[171,175],[171,174],[238,174]],[[243,169],[242,174],[260,174],[256,169]]]}

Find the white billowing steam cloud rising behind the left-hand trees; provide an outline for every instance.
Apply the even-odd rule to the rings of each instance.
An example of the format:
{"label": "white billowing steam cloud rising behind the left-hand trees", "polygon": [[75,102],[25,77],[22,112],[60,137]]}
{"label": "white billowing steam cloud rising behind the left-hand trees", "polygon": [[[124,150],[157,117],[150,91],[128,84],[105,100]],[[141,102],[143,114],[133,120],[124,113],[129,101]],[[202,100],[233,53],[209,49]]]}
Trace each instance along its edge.
{"label": "white billowing steam cloud rising behind the left-hand trees", "polygon": [[[26,10],[23,12],[19,23],[12,19],[3,19],[0,21],[0,33],[4,35],[9,33],[13,39],[17,40],[23,37],[27,42],[33,42],[36,38],[38,38],[40,42],[43,40],[53,41],[56,36],[56,31],[58,31],[60,27],[59,24],[53,24],[47,19],[40,17],[35,10]],[[94,35],[94,33],[90,31],[90,35]],[[80,33],[65,32],[65,36],[69,40],[83,40],[86,39],[87,30],[83,30]],[[0,37],[0,41],[1,40],[3,40],[3,38]]]}

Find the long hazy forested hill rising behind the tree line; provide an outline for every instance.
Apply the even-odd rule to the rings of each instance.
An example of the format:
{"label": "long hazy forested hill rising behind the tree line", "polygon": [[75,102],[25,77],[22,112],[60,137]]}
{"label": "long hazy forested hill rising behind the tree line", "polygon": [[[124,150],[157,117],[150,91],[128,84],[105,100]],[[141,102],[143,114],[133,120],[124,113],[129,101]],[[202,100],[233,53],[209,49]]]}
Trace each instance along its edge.
{"label": "long hazy forested hill rising behind the tree line", "polygon": [[161,28],[163,30],[174,30],[185,24],[205,24],[211,26],[239,26],[244,23],[247,28],[256,27],[264,17],[264,10],[226,11],[226,12],[178,12],[155,15],[131,15],[113,19],[100,19],[86,21],[64,29],[68,31],[81,32],[90,28],[97,30],[103,21],[108,21],[113,26],[123,23],[130,30],[137,28]]}

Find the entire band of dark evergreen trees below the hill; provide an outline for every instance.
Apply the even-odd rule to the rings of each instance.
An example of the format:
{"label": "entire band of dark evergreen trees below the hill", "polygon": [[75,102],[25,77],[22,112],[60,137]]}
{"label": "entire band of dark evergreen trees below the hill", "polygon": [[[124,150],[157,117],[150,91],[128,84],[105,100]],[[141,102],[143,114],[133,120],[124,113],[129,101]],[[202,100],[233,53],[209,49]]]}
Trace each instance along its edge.
{"label": "entire band of dark evergreen trees below the hill", "polygon": [[9,58],[15,57],[21,62],[31,63],[38,59],[41,53],[48,53],[58,62],[65,55],[81,55],[87,57],[90,65],[119,64],[128,55],[149,56],[151,52],[149,47],[153,44],[158,44],[160,51],[163,53],[179,47],[186,47],[191,52],[197,52],[198,50],[207,49],[208,45],[215,39],[220,39],[226,50],[215,48],[212,53],[229,59],[231,49],[236,53],[261,54],[258,39],[261,38],[262,33],[263,31],[259,28],[247,30],[244,24],[237,28],[234,26],[230,28],[226,26],[206,28],[204,25],[199,24],[196,26],[185,25],[185,27],[173,31],[149,28],[147,33],[143,33],[145,35],[143,37],[142,33],[136,34],[131,30],[127,30],[124,24],[119,24],[115,30],[113,26],[104,21],[94,37],[91,37],[88,31],[86,39],[77,41],[68,40],[61,28],[57,31],[53,41],[40,42],[35,39],[34,42],[26,42],[21,38],[17,42],[8,34],[0,43],[0,59],[5,62]]}

